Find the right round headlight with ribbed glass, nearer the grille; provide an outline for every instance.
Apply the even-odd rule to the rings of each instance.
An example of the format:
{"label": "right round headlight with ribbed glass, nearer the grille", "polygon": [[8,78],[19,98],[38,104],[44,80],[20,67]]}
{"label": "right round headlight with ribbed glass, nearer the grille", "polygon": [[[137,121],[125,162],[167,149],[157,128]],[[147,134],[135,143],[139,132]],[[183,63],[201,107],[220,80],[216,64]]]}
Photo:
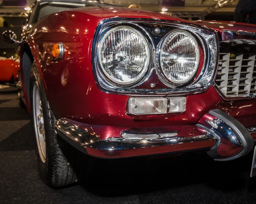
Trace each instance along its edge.
{"label": "right round headlight with ribbed glass, nearer the grille", "polygon": [[198,42],[189,32],[173,31],[163,41],[160,48],[160,68],[171,83],[188,82],[195,76],[198,64]]}

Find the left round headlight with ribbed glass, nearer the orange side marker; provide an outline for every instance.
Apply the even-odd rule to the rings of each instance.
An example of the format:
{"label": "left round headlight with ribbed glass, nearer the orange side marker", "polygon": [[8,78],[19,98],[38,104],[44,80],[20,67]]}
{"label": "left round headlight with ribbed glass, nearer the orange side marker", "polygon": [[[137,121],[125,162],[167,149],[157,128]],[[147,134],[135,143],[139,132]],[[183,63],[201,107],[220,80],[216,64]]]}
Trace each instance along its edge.
{"label": "left round headlight with ribbed glass, nearer the orange side marker", "polygon": [[131,85],[148,70],[149,48],[143,35],[129,26],[109,30],[99,43],[101,74],[117,85]]}

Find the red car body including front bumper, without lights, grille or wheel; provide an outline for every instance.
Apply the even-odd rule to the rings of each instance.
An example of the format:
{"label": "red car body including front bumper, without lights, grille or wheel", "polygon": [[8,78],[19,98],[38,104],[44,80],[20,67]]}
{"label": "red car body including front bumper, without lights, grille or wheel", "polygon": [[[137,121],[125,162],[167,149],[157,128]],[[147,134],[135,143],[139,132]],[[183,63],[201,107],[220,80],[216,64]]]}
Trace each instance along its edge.
{"label": "red car body including front bumper, without lights, grille or wheel", "polygon": [[[247,128],[250,132],[247,131],[246,134],[256,139],[254,128],[256,127],[256,99],[253,96],[228,99],[218,91],[213,82],[217,73],[218,60],[209,87],[199,92],[175,94],[175,96],[186,96],[185,112],[160,115],[127,114],[128,99],[134,95],[102,90],[93,71],[93,43],[97,37],[97,28],[107,20],[115,22],[126,20],[128,23],[133,21],[148,21],[156,24],[177,23],[183,24],[185,29],[190,25],[199,26],[202,30],[206,29],[214,33],[220,42],[256,39],[256,26],[253,25],[216,21],[191,22],[164,14],[114,6],[78,8],[44,17],[25,29],[23,41],[20,44],[21,56],[28,50],[31,52],[49,104],[58,119],[55,126],[64,139],[83,152],[100,158],[180,153],[191,150],[208,151],[214,149],[216,145],[219,145],[217,152],[221,158],[230,158],[239,154],[243,147],[237,147],[236,144],[230,144],[225,140],[224,142],[221,140],[219,144],[216,142],[218,136],[208,137],[207,130],[197,125],[207,126],[205,121],[219,119],[216,116],[217,113],[211,112],[215,109],[221,111],[227,119],[226,122],[235,118],[236,122],[243,125],[240,130],[243,128],[243,131],[247,131],[244,129]],[[63,59],[56,61],[52,56],[52,46],[59,42],[68,48],[68,53]],[[216,49],[218,52],[218,45]],[[29,88],[26,87],[28,77],[24,71],[24,64],[26,64],[24,58],[21,57],[23,92],[27,108],[30,110]],[[159,79],[151,78],[151,82],[158,84],[159,87],[162,86],[159,84]],[[150,84],[148,83],[145,82],[145,87],[142,85],[142,88],[146,89]],[[156,85],[154,89],[159,87]],[[152,95],[154,94],[149,92],[138,94],[138,96],[147,97]],[[160,96],[172,96],[172,91]],[[67,126],[69,123],[72,125]],[[73,128],[84,132],[80,136]],[[124,141],[122,132],[132,130],[145,134],[175,131],[179,142],[148,140],[144,141],[144,145],[143,141]],[[250,140],[252,143],[250,150],[254,145],[253,139]]]}

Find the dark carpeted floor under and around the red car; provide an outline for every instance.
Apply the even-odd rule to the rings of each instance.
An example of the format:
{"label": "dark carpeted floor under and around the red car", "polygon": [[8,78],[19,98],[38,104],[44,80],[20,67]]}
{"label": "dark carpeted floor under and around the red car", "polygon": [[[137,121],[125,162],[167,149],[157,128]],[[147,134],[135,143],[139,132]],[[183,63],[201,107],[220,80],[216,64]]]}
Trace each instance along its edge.
{"label": "dark carpeted floor under and around the red car", "polygon": [[256,203],[247,174],[251,155],[228,163],[201,153],[99,160],[88,182],[53,190],[38,176],[31,137],[29,115],[19,108],[17,94],[0,89],[0,204]]}

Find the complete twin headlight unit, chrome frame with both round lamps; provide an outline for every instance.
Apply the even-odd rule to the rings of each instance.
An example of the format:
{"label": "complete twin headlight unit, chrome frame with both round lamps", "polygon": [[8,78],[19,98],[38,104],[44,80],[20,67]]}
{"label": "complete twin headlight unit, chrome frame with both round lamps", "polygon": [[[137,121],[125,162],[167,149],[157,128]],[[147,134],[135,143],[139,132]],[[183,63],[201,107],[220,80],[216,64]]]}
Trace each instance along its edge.
{"label": "complete twin headlight unit, chrome frame with both round lamps", "polygon": [[[156,30],[160,32],[156,32]],[[186,56],[182,59],[183,62],[189,61],[189,72],[183,74],[185,77],[179,76],[168,79],[162,71],[163,62],[161,65],[160,50],[163,42],[174,31],[182,31],[184,36],[192,36],[192,41],[188,43],[194,42],[193,46],[196,48],[194,41],[196,40],[199,54],[198,51],[193,54],[189,50],[188,53],[193,55],[192,62]],[[130,32],[134,37],[128,37],[131,35],[127,32]],[[117,36],[120,37],[117,38]],[[138,38],[137,41],[136,38]],[[111,45],[112,42],[114,45]],[[119,43],[118,47],[116,42]],[[131,45],[136,47],[139,44],[137,42],[140,42],[138,52],[140,54],[136,53],[134,56],[137,57],[133,56],[136,59],[134,61],[131,60],[131,55],[128,55],[128,51],[131,54],[131,49],[127,51],[127,48],[131,48]],[[126,53],[124,48],[126,48]],[[118,59],[119,55],[121,56],[120,59]],[[173,55],[170,57],[178,58],[182,56],[175,57]],[[180,62],[182,60],[180,59]],[[93,38],[92,65],[94,79],[99,90],[105,93],[154,96],[201,93],[212,84],[216,73],[217,60],[217,32],[204,26],[185,22],[106,19],[99,23]],[[136,66],[134,62],[136,62]],[[126,78],[119,77],[119,73],[125,75]]]}

